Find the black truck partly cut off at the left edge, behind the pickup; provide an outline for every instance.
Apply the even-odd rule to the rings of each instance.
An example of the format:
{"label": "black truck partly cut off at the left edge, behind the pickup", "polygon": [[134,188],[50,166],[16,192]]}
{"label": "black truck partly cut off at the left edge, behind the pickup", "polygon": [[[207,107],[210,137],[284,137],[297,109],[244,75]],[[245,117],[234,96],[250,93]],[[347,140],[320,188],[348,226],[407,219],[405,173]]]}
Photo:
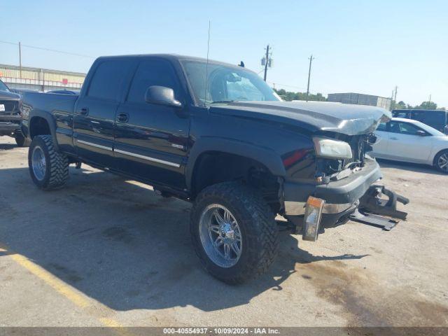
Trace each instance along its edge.
{"label": "black truck partly cut off at the left edge, behind the pickup", "polygon": [[10,92],[8,86],[0,80],[0,137],[13,137],[19,147],[25,146],[21,125],[20,95]]}

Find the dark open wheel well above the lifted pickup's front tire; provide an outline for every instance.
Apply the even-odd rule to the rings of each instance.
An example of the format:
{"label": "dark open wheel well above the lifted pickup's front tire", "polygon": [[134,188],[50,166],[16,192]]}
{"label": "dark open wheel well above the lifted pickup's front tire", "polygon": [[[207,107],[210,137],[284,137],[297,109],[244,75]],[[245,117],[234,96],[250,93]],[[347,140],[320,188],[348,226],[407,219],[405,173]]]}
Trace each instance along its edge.
{"label": "dark open wheel well above the lifted pickup's front tire", "polygon": [[272,209],[279,210],[279,180],[265,165],[251,158],[216,151],[202,153],[197,158],[191,184],[192,198],[208,186],[227,181],[241,181],[257,188]]}

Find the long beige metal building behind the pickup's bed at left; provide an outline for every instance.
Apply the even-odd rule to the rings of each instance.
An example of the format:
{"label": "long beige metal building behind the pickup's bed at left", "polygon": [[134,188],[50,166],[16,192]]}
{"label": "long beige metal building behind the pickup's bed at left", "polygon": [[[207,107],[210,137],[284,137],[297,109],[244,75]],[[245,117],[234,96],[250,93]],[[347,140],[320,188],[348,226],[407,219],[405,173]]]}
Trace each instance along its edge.
{"label": "long beige metal building behind the pickup's bed at left", "polygon": [[0,64],[0,79],[13,89],[80,90],[85,73]]}

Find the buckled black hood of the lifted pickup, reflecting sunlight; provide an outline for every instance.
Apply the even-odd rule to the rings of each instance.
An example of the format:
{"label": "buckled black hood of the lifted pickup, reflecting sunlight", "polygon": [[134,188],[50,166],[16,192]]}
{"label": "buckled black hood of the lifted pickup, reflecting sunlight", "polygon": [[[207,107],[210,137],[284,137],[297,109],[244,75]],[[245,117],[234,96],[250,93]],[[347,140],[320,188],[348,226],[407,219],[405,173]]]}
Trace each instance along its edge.
{"label": "buckled black hood of the lifted pickup, reflecting sunlight", "polygon": [[373,132],[392,118],[380,107],[334,102],[230,102],[214,104],[210,112],[350,136]]}

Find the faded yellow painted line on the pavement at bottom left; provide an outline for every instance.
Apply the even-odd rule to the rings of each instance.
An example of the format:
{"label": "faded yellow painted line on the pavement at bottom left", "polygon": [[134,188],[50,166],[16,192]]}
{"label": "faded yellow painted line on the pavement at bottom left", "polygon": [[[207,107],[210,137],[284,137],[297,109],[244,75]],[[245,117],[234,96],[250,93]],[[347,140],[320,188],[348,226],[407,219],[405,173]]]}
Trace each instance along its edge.
{"label": "faded yellow painted line on the pavement at bottom left", "polygon": [[[80,308],[86,308],[92,306],[91,301],[85,295],[79,293],[78,290],[72,288],[71,286],[68,286],[64,281],[54,276],[46,269],[43,269],[43,267],[36,265],[34,262],[29,260],[24,255],[14,253],[13,251],[10,250],[10,248],[1,243],[0,243],[0,252],[9,252],[7,254],[8,257],[17,262],[18,265],[24,267],[29,272],[37,276],[39,279],[43,280],[50,287],[55,289],[58,293],[64,295],[64,297],[66,297],[71,302],[76,304],[76,306]],[[123,328],[123,325],[118,323],[118,321],[113,320],[113,318],[106,318],[106,317],[102,318],[95,317],[95,318],[97,319],[97,321],[101,322],[106,327]],[[125,330],[116,330],[116,332],[118,332],[120,335],[129,335],[127,334],[127,332],[125,332]]]}

